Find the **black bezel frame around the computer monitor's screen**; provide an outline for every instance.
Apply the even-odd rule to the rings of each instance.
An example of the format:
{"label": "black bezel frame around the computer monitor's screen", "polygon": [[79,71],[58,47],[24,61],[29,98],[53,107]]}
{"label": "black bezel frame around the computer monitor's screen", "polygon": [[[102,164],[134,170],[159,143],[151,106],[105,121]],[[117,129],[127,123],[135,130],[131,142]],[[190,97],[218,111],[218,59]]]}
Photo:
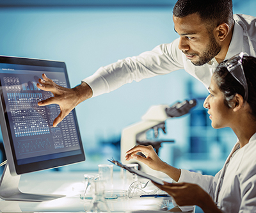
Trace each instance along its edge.
{"label": "black bezel frame around the computer monitor's screen", "polygon": [[[65,65],[65,62],[63,61],[51,61],[51,60],[45,60],[45,59],[0,56],[0,63],[13,64],[13,65],[31,65],[31,66],[38,66],[38,67],[63,68],[65,78],[67,79],[67,87],[70,88],[70,83],[69,83],[68,74],[67,74],[67,67]],[[65,166],[68,164],[74,164],[76,162],[85,161],[83,143],[81,140],[81,134],[79,131],[79,125],[76,117],[76,110],[73,109],[72,113],[74,115],[74,122],[77,127],[76,128],[77,136],[79,139],[81,154],[59,157],[56,159],[49,159],[49,160],[38,161],[38,162],[30,162],[28,164],[18,164],[16,155],[15,155],[12,134],[10,131],[10,123],[8,122],[8,114],[6,112],[6,104],[4,102],[4,94],[3,94],[2,88],[0,89],[0,96],[1,96],[1,106],[0,106],[1,117],[4,118],[4,119],[1,119],[1,131],[3,134],[4,148],[6,150],[6,158],[8,159],[8,163],[10,165],[10,172],[12,175],[21,175],[21,174],[30,173],[33,171],[47,170],[51,168]]]}

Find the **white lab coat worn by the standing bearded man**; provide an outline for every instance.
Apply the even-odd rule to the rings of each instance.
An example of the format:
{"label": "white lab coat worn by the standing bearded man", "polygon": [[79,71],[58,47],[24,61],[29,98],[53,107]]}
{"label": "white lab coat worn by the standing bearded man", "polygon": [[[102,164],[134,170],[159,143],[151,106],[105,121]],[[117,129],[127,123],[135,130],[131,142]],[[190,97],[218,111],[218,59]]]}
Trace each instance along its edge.
{"label": "white lab coat worn by the standing bearded man", "polygon": [[[226,59],[244,51],[256,56],[256,17],[250,15],[234,15],[234,33],[228,48]],[[139,56],[125,58],[106,67],[100,67],[95,74],[83,81],[93,91],[93,97],[113,91],[120,86],[141,81],[156,75],[169,74],[184,69],[206,88],[209,87],[211,76],[218,65],[215,58],[202,66],[195,66],[179,50],[179,38],[172,43],[164,43],[152,51],[143,52]]]}

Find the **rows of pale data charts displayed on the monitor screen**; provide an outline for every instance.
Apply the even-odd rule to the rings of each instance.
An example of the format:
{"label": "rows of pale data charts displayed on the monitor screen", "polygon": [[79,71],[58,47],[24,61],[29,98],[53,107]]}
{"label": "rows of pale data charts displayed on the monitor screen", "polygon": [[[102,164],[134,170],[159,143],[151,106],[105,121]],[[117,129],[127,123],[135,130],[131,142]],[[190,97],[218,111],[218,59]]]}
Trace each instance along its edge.
{"label": "rows of pale data charts displayed on the monitor screen", "polygon": [[[73,114],[68,114],[57,127],[52,127],[60,107],[57,104],[38,106],[40,100],[53,95],[38,89],[35,79],[38,79],[35,75],[28,79],[22,75],[8,74],[2,81],[18,158],[76,150],[79,148],[79,139]],[[52,81],[67,87],[65,81],[57,78]]]}

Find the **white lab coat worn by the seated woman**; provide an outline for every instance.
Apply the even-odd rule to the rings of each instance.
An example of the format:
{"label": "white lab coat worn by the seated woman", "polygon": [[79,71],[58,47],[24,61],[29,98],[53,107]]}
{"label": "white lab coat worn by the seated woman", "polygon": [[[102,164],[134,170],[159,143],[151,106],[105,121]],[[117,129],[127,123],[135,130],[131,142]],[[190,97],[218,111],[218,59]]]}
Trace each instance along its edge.
{"label": "white lab coat worn by the seated woman", "polygon": [[215,177],[181,170],[179,182],[200,185],[223,212],[256,212],[256,133],[237,148],[238,142]]}

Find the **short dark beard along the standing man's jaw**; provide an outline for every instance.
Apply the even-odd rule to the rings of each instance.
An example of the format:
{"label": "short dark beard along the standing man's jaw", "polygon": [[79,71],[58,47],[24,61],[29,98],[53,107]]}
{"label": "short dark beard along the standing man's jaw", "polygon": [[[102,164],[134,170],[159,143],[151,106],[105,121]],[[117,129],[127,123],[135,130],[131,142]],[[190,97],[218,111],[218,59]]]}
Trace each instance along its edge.
{"label": "short dark beard along the standing man's jaw", "polygon": [[[212,58],[218,55],[218,53],[221,51],[220,45],[216,42],[213,35],[210,36],[210,43],[205,48],[205,51],[202,53],[202,56],[198,56],[198,54],[195,54],[195,56],[198,56],[198,61],[191,61],[193,65],[195,66],[202,66],[205,63],[208,63],[211,61]],[[184,52],[185,53],[185,52]]]}

